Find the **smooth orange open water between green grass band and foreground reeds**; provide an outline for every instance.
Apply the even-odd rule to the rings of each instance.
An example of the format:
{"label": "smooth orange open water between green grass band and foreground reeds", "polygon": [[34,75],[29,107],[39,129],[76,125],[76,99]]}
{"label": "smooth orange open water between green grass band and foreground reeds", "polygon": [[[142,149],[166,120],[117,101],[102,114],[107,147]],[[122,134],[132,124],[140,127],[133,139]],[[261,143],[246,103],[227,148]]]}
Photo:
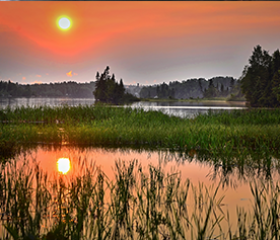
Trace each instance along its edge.
{"label": "smooth orange open water between green grass band and foreground reeds", "polygon": [[[238,166],[236,163],[227,166],[222,163],[214,164],[211,159],[198,159],[195,152],[189,154],[167,150],[144,151],[69,146],[36,147],[20,154],[18,160],[23,162],[24,159],[27,159],[30,163],[36,161],[40,168],[52,174],[58,171],[57,161],[59,158],[69,158],[72,165],[81,159],[88,163],[94,163],[111,180],[114,178],[116,161],[121,160],[129,163],[133,159],[137,159],[144,169],[148,169],[148,166],[152,165],[160,167],[165,173],[180,173],[183,181],[189,179],[195,186],[199,183],[206,186],[213,184],[217,186],[222,183],[220,195],[225,196],[224,210],[233,215],[236,213],[237,206],[248,207],[251,205],[250,182],[255,179],[264,182],[280,180],[278,160],[273,158],[270,169],[263,171],[260,165],[254,166],[252,162],[243,166]],[[75,169],[71,168],[67,174],[75,174]]]}

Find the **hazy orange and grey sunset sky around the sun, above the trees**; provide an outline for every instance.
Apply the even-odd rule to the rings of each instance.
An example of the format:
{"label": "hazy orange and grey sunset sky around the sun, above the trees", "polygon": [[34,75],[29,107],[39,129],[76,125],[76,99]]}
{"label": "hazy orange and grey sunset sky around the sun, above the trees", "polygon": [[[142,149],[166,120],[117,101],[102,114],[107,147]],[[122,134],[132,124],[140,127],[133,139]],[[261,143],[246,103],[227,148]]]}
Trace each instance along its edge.
{"label": "hazy orange and grey sunset sky around the sun, above the trees", "polygon": [[239,78],[257,44],[279,48],[279,13],[259,1],[0,2],[0,79],[89,82],[106,66],[125,84]]}

